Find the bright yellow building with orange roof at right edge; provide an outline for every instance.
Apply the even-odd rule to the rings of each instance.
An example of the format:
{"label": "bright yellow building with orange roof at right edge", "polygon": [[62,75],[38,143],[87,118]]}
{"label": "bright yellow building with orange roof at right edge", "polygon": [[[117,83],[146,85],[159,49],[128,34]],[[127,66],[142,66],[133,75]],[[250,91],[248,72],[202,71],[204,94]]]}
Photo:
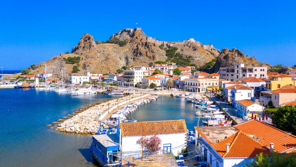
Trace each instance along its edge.
{"label": "bright yellow building with orange roof at right edge", "polygon": [[272,75],[266,80],[266,88],[273,91],[285,85],[294,85],[292,77],[286,74]]}

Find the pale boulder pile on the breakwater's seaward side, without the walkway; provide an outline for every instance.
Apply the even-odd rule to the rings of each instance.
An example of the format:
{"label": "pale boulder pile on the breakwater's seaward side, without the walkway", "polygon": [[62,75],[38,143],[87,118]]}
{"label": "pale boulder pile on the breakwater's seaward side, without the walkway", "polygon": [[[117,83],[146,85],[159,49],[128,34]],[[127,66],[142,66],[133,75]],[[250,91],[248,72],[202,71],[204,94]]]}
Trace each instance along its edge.
{"label": "pale boulder pile on the breakwater's seaward side, without the walkway", "polygon": [[[132,94],[130,96],[124,96],[118,98],[118,103],[129,101],[135,97],[139,97],[139,94]],[[143,96],[143,95],[142,95]],[[108,112],[109,109],[113,106],[117,106],[117,99],[113,99],[93,107],[84,110],[83,112],[65,120],[64,122],[58,124],[58,127],[55,130],[64,131],[68,133],[81,133],[81,134],[95,134],[98,131],[100,122],[95,119],[99,114],[103,115],[105,112]],[[102,116],[101,116],[102,117]]]}

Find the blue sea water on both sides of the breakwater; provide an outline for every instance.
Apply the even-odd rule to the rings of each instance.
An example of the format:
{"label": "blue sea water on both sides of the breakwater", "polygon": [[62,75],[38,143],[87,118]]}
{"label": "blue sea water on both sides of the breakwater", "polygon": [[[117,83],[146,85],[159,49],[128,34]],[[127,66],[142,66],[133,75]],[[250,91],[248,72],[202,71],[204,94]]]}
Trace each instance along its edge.
{"label": "blue sea water on both sides of the breakwater", "polygon": [[[0,89],[0,166],[98,166],[92,158],[91,135],[55,131],[47,124],[88,104],[118,96],[71,96],[35,88]],[[183,98],[160,96],[129,115],[138,121],[185,119],[187,128],[199,118]]]}

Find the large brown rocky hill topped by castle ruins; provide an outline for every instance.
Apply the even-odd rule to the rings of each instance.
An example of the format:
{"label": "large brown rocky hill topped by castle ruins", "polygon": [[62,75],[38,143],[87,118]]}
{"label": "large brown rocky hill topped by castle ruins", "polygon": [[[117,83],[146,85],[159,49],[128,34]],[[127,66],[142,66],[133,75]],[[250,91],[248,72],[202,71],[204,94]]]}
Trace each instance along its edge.
{"label": "large brown rocky hill topped by castle ruins", "polygon": [[[127,44],[124,46],[113,43],[96,44],[94,38],[90,34],[85,33],[78,44],[73,47],[72,53],[61,53],[60,56],[54,56],[46,62],[41,62],[29,74],[44,72],[45,64],[47,64],[47,71],[51,71],[55,76],[61,75],[63,67],[66,67],[66,74],[68,76],[78,75],[78,73],[84,75],[87,71],[114,73],[122,66],[148,65],[149,62],[166,60],[165,49],[159,48],[161,44],[167,48],[177,47],[178,52],[183,57],[191,56],[191,63],[198,66],[209,62],[220,54],[220,51],[214,48],[212,44],[204,45],[193,38],[178,42],[159,41],[146,36],[141,28],[123,29],[110,37],[110,39],[115,38],[127,41]],[[68,57],[80,57],[80,62],[70,64],[64,60]],[[77,66],[80,71],[72,73],[73,66]]]}

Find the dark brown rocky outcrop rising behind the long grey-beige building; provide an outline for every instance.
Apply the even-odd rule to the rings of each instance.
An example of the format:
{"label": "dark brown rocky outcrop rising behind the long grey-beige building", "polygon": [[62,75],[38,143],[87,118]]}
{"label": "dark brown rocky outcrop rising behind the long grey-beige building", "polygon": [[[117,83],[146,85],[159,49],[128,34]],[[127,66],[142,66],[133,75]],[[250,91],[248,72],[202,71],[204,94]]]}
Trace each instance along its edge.
{"label": "dark brown rocky outcrop rising behind the long grey-beige building", "polygon": [[217,72],[220,67],[231,67],[238,63],[244,63],[245,66],[268,67],[268,69],[274,68],[268,63],[258,62],[255,57],[249,57],[249,55],[243,54],[241,50],[236,48],[228,50],[227,48],[224,48],[217,58],[214,70]]}

